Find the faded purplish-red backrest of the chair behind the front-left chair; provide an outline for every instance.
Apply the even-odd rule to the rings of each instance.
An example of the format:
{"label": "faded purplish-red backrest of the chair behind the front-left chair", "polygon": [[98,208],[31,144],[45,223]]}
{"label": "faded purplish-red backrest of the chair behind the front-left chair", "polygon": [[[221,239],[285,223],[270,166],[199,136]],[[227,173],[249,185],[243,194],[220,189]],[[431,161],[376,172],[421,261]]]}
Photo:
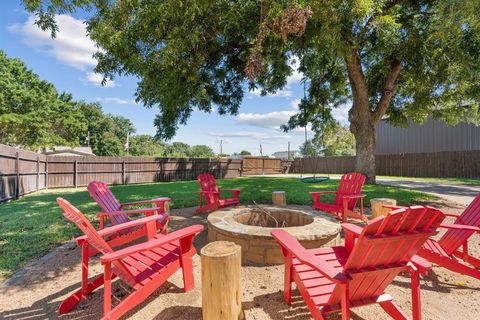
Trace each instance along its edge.
{"label": "faded purplish-red backrest of the chair behind the front-left chair", "polygon": [[[106,183],[100,181],[92,181],[87,187],[88,193],[95,200],[102,212],[109,213],[120,211],[120,202],[113,195],[112,191]],[[126,214],[116,214],[110,216],[112,224],[121,224],[130,221]]]}

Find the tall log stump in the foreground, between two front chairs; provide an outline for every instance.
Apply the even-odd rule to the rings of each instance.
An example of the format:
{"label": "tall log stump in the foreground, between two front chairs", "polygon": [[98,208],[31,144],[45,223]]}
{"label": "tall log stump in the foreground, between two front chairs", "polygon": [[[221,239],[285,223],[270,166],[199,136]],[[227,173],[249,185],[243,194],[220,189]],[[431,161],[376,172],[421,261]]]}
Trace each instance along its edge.
{"label": "tall log stump in the foreground, between two front chairs", "polygon": [[203,320],[244,319],[240,290],[241,247],[215,241],[201,250]]}

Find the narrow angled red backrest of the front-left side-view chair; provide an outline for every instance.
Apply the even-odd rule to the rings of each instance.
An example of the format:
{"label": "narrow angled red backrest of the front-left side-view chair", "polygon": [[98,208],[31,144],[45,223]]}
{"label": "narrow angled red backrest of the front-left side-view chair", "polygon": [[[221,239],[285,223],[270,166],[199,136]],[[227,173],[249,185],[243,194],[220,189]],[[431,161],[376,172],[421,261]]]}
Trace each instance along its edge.
{"label": "narrow angled red backrest of the front-left side-view chair", "polygon": [[[108,245],[108,243],[103,239],[101,235],[98,234],[97,230],[92,226],[90,221],[80,212],[76,207],[74,207],[70,202],[63,198],[57,198],[57,203],[63,210],[63,216],[75,223],[77,227],[83,231],[83,233],[88,238],[88,243],[100,251],[103,254],[113,252],[113,249]],[[120,277],[123,281],[130,285],[136,283],[133,275],[128,271],[123,262],[115,261],[113,262],[113,270],[115,274]]]}

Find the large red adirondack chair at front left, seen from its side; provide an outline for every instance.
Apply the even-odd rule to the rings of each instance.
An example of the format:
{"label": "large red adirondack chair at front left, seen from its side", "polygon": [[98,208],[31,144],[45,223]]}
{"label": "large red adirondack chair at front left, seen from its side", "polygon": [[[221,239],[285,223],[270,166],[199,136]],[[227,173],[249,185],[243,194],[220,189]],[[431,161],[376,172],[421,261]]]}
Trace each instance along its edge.
{"label": "large red adirondack chair at front left, seen from its side", "polygon": [[[203,230],[203,226],[190,226],[168,235],[157,234],[156,217],[150,216],[97,231],[68,201],[57,198],[57,203],[64,211],[65,218],[75,223],[85,234],[76,239],[77,244],[82,247],[82,287],[62,302],[59,308],[60,314],[71,311],[92,291],[103,285],[102,319],[118,319],[147,299],[180,268],[183,272],[185,292],[194,287],[192,257],[196,251],[192,242],[195,235]],[[147,242],[114,251],[105,240],[108,235],[140,225],[145,226],[147,230]],[[89,282],[90,246],[103,254],[100,261],[104,266],[104,272]],[[116,277],[129,285],[132,293],[112,309],[111,281]]]}

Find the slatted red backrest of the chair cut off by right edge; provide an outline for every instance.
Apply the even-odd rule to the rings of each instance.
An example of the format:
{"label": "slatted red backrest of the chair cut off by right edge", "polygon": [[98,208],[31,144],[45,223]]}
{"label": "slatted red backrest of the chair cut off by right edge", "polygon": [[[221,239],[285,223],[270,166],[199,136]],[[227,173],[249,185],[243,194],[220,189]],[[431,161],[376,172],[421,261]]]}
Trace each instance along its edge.
{"label": "slatted red backrest of the chair cut off by right edge", "polygon": [[[473,199],[470,205],[463,211],[460,217],[455,221],[457,224],[463,224],[473,227],[480,227],[480,193]],[[438,243],[447,254],[452,254],[467,240],[474,231],[466,230],[448,230],[440,238]]]}

